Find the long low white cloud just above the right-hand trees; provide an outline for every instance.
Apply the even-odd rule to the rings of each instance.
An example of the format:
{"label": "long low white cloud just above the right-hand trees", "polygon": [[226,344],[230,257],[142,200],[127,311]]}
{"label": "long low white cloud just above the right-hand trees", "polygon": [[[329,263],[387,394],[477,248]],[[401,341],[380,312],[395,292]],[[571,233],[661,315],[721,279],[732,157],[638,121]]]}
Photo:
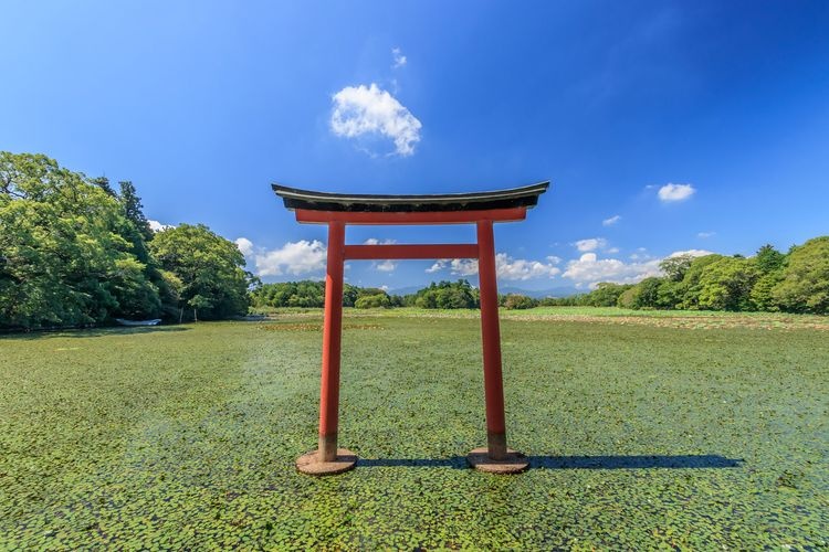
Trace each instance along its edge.
{"label": "long low white cloud just above the right-hand trees", "polygon": [[[668,255],[676,257],[679,255],[702,256],[710,255],[710,251],[689,250],[676,251]],[[634,262],[625,263],[617,258],[598,258],[596,253],[585,253],[578,259],[567,263],[564,274],[565,278],[570,278],[577,287],[595,287],[599,282],[613,282],[616,284],[636,284],[650,276],[661,276],[662,270],[659,264],[662,258],[648,259],[647,255],[642,259],[641,255],[633,254],[630,256]],[[638,261],[639,259],[639,261]]]}

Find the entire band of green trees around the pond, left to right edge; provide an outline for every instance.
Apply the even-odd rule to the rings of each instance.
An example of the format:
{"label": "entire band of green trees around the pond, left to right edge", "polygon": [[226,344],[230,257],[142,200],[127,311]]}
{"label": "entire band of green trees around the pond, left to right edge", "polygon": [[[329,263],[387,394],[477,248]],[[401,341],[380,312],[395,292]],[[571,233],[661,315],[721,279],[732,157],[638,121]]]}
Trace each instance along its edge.
{"label": "entire band of green trees around the pond, left to right edge", "polygon": [[[154,232],[130,181],[117,189],[43,155],[0,152],[0,329],[222,319],[250,307],[316,308],[322,282],[262,284],[237,245],[203,224]],[[829,311],[829,236],[783,253],[674,256],[662,277],[599,284],[590,293],[537,300],[501,297],[507,309],[618,306],[632,309]],[[478,308],[466,280],[389,295],[346,284],[347,307]]]}

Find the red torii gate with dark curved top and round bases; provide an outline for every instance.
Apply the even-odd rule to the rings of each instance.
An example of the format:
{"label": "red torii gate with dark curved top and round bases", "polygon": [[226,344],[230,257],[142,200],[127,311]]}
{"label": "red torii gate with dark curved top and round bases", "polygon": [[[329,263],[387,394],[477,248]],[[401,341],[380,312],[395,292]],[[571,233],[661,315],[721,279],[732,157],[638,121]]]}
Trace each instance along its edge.
{"label": "red torii gate with dark curved top and round bases", "polygon": [[[348,259],[476,258],[481,294],[484,395],[487,447],[468,455],[470,464],[499,474],[523,471],[528,461],[506,446],[504,385],[501,373],[495,243],[492,224],[516,222],[538,202],[549,182],[478,193],[440,195],[370,195],[325,193],[280,184],[272,188],[296,221],[328,225],[328,265],[325,275],[323,374],[319,399],[319,448],[296,460],[300,471],[339,474],[354,467],[357,456],[337,448],[339,358],[343,321],[343,267]],[[347,224],[476,224],[475,244],[346,245]]]}

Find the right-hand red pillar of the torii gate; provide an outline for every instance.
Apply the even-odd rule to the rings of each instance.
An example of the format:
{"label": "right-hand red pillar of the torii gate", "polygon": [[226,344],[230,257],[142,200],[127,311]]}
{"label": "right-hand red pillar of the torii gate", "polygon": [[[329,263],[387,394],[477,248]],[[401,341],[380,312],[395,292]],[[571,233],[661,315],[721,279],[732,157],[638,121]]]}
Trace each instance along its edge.
{"label": "right-hand red pillar of the torii gate", "polygon": [[483,344],[486,442],[493,460],[506,457],[504,383],[501,373],[501,328],[492,221],[478,223],[478,277],[481,287],[481,341]]}

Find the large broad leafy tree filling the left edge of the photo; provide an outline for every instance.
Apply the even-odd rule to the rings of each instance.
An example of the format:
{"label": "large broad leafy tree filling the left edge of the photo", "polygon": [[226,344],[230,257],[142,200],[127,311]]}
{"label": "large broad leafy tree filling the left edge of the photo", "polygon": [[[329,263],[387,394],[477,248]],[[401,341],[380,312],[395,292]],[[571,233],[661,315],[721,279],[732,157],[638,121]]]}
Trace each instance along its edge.
{"label": "large broad leafy tree filling the left edge of the photo", "polygon": [[42,155],[0,152],[0,326],[96,323],[141,302],[157,314],[126,224],[101,184]]}

